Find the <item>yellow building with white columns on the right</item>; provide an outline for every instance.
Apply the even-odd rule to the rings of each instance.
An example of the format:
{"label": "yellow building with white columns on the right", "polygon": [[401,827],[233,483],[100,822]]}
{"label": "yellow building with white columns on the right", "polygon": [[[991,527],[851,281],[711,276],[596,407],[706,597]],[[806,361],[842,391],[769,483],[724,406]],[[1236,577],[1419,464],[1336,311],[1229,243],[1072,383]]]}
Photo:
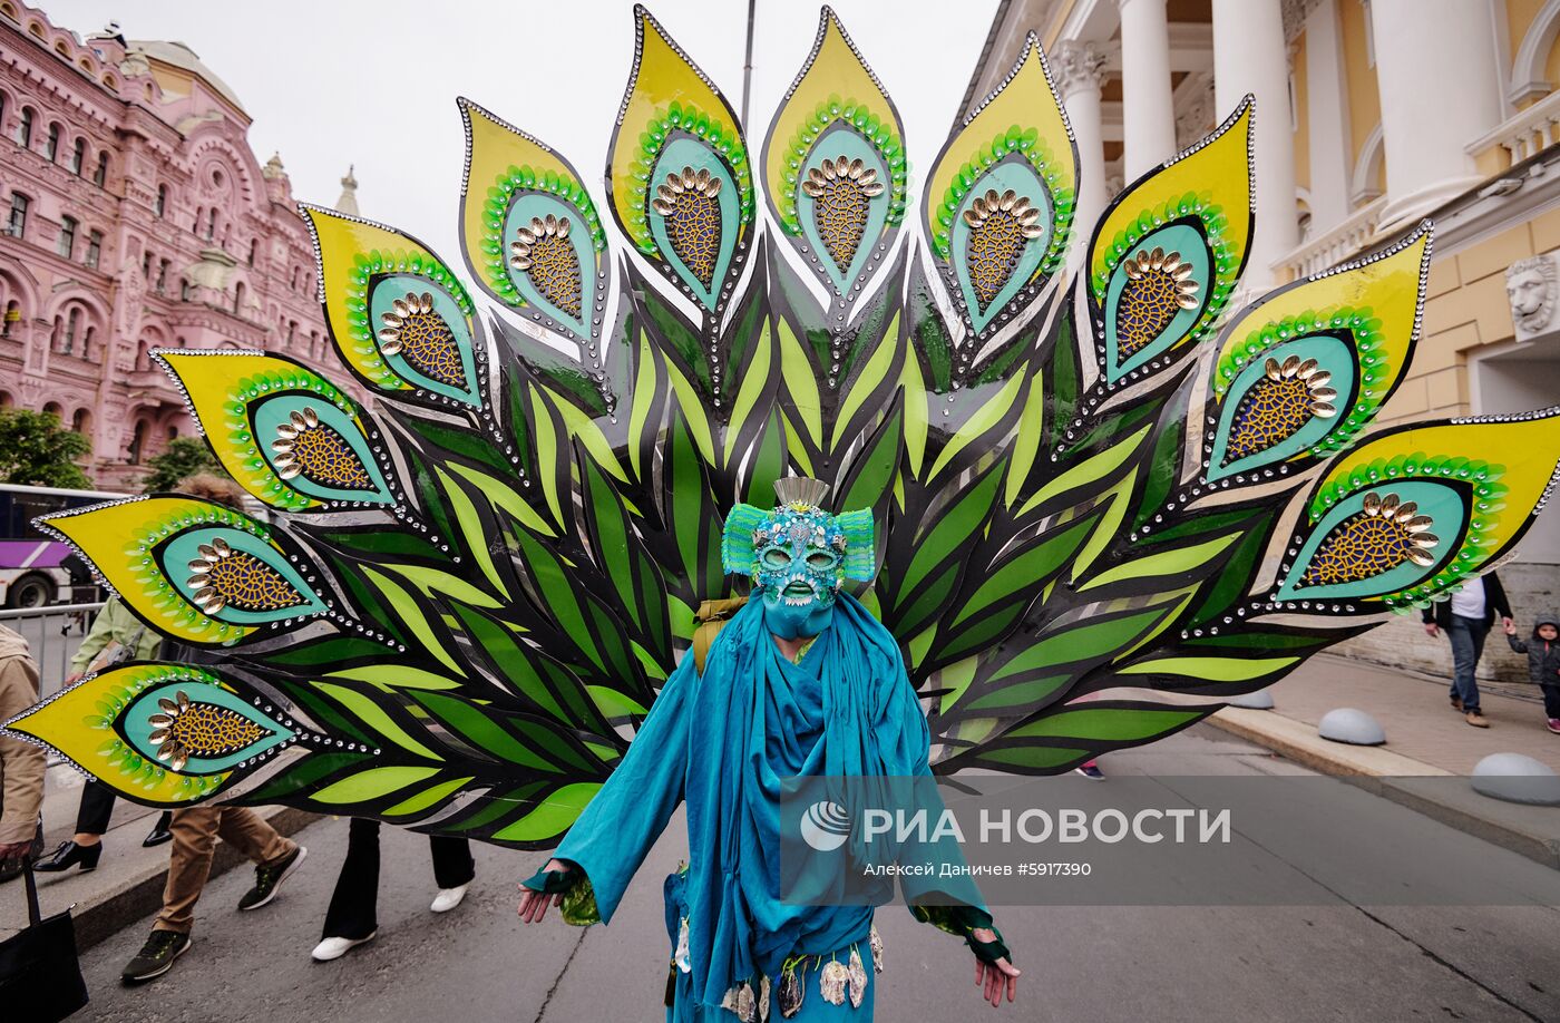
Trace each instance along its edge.
{"label": "yellow building with white columns on the right", "polygon": [[[1251,290],[1435,220],[1420,349],[1379,423],[1560,404],[1560,0],[1003,0],[966,106],[1028,31],[1078,139],[1081,223],[1251,92]],[[1501,575],[1526,621],[1560,605],[1560,515]],[[1409,621],[1348,647],[1445,667]]]}

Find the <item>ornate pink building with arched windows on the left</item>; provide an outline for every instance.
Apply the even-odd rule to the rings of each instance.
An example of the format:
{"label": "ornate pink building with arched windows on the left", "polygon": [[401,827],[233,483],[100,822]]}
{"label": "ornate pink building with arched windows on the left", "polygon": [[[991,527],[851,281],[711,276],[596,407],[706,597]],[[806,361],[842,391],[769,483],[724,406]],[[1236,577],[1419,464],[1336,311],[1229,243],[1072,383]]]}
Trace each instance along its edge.
{"label": "ornate pink building with arched windows on the left", "polygon": [[309,232],[248,126],[189,47],[0,0],[0,404],[89,437],[101,488],[193,429],[153,349],[324,356]]}

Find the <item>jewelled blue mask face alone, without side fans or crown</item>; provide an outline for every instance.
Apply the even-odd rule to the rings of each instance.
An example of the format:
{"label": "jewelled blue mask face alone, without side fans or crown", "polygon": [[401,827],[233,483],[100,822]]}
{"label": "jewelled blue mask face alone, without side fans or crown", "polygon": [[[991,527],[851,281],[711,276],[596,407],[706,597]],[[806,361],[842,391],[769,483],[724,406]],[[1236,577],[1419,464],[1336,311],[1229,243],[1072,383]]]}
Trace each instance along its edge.
{"label": "jewelled blue mask face alone, without side fans or crown", "polygon": [[753,530],[753,582],[764,624],[782,639],[828,627],[844,582],[846,533],[835,516],[810,505],[782,505]]}

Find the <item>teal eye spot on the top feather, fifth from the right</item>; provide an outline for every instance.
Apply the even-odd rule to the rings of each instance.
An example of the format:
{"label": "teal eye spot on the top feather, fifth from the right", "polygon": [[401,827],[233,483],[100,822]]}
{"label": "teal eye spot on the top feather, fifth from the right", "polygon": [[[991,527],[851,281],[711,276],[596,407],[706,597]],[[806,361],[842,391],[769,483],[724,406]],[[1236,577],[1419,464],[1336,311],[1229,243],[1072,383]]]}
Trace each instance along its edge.
{"label": "teal eye spot on the top feather, fifth from the right", "polygon": [[866,270],[888,225],[889,168],[877,147],[842,122],[819,136],[797,175],[796,209],[813,265],[842,293]]}

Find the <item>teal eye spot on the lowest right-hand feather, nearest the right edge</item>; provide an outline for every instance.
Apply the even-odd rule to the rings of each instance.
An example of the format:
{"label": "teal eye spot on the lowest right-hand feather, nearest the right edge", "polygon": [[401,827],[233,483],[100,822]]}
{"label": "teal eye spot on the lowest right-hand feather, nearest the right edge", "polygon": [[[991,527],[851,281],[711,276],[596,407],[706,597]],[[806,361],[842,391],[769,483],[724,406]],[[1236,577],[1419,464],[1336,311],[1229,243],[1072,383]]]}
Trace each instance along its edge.
{"label": "teal eye spot on the lowest right-hand feather, nearest the right edge", "polygon": [[1465,521],[1465,501],[1446,483],[1360,490],[1310,530],[1275,599],[1365,600],[1407,589],[1457,549],[1443,536],[1460,538]]}

